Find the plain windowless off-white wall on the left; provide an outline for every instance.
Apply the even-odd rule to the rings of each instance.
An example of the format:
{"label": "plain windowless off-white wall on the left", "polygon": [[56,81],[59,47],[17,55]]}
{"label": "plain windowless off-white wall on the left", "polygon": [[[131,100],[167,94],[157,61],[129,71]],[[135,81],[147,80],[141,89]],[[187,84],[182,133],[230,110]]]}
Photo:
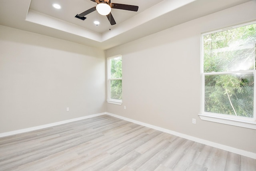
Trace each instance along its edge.
{"label": "plain windowless off-white wall on the left", "polygon": [[105,112],[105,80],[103,50],[0,26],[0,133]]}

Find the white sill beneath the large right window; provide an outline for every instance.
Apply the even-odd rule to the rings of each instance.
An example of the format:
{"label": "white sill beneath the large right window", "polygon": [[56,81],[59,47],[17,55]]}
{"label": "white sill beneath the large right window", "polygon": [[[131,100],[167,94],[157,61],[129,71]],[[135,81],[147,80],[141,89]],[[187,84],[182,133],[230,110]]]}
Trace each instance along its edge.
{"label": "white sill beneath the large right window", "polygon": [[238,119],[230,119],[227,117],[219,117],[219,116],[208,115],[208,114],[198,114],[198,116],[200,117],[200,119],[205,120],[205,121],[224,123],[227,125],[234,125],[234,126],[238,126],[238,127],[256,129],[255,121],[244,121],[244,120],[238,120]]}

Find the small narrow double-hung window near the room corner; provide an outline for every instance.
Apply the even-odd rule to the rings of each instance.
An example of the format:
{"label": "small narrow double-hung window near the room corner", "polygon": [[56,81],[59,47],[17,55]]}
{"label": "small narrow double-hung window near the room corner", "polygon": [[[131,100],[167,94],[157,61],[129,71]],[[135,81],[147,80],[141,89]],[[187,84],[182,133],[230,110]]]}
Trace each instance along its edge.
{"label": "small narrow double-hung window near the room corner", "polygon": [[122,104],[122,56],[108,58],[108,103]]}

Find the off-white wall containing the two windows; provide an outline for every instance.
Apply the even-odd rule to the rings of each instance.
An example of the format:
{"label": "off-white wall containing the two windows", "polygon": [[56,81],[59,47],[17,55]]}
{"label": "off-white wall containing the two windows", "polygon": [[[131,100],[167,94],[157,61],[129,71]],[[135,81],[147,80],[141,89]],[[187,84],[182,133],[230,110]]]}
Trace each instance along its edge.
{"label": "off-white wall containing the two windows", "polygon": [[256,20],[255,9],[250,1],[107,50],[123,62],[123,103],[107,112],[256,153],[256,130],[198,117],[201,34]]}

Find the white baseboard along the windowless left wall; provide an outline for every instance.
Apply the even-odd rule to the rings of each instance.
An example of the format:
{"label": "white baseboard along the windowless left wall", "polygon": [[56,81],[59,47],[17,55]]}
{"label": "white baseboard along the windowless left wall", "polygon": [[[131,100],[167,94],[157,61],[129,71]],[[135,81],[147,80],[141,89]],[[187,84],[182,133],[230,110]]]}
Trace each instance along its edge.
{"label": "white baseboard along the windowless left wall", "polygon": [[25,133],[25,132],[35,131],[35,130],[38,130],[38,129],[43,129],[43,128],[48,128],[48,127],[52,127],[52,126],[56,126],[56,125],[61,125],[61,124],[64,124],[64,123],[79,121],[79,120],[82,120],[82,119],[88,119],[88,118],[96,117],[96,116],[100,116],[100,115],[106,115],[106,112],[97,113],[97,114],[94,114],[94,115],[83,116],[83,117],[77,117],[77,118],[74,118],[74,119],[68,119],[68,120],[65,120],[65,121],[49,123],[49,124],[40,125],[40,126],[36,126],[36,127],[19,129],[19,130],[16,130],[16,131],[0,133],[0,137],[6,137],[6,136],[10,136],[10,135],[15,135],[15,134],[18,134],[18,133]]}

